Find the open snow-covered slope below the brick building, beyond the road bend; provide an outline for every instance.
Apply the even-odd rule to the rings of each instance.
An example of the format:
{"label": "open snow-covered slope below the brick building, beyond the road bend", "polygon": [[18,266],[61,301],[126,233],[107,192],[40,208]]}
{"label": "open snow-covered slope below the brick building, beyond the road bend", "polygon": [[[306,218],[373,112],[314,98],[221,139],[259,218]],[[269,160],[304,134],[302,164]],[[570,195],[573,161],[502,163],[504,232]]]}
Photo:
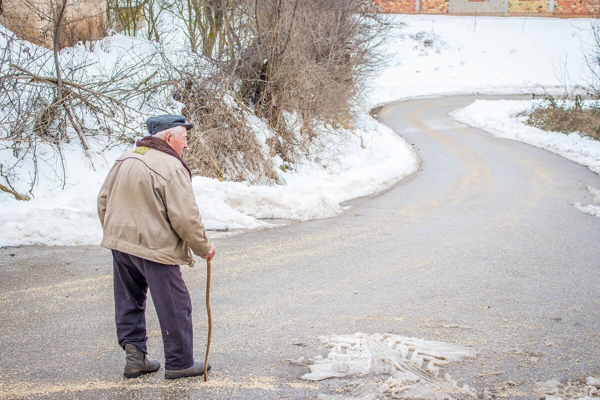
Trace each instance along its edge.
{"label": "open snow-covered slope below the brick building, beyond the road bend", "polygon": [[[589,19],[399,16],[386,41],[390,63],[374,81],[374,105],[448,94],[515,94],[589,78]],[[563,74],[563,71],[568,71]]]}

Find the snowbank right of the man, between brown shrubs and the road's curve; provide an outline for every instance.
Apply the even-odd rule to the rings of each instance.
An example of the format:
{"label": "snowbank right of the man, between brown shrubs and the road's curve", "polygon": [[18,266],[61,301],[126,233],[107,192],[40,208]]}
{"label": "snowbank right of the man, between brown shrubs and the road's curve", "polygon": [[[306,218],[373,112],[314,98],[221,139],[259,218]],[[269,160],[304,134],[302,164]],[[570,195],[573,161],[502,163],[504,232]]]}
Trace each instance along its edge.
{"label": "snowbank right of the man, between brown shrubs and the road's curve", "polygon": [[324,154],[320,167],[308,164],[284,173],[286,185],[265,187],[195,177],[194,190],[206,224],[213,229],[254,228],[269,225],[256,218],[326,218],[343,210],[341,202],[385,190],[415,172],[416,155],[401,137],[368,117],[361,124],[365,148],[360,137],[334,136],[338,140],[329,139],[328,148],[342,149],[341,154],[330,160]]}

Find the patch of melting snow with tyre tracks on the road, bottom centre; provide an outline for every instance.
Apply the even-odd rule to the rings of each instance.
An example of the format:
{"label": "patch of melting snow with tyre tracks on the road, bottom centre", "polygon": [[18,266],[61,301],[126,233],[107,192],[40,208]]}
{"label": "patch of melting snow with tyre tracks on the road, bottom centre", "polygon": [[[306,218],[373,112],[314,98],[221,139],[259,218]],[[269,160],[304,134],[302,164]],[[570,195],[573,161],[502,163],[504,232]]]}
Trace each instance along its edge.
{"label": "patch of melting snow with tyre tracks on the road, bottom centre", "polygon": [[319,381],[365,375],[373,375],[373,379],[353,385],[350,393],[320,395],[319,399],[475,398],[469,386],[458,386],[457,381],[441,371],[450,362],[472,357],[467,347],[390,333],[355,333],[320,339],[330,348],[329,354],[313,359],[310,372],[301,379]]}

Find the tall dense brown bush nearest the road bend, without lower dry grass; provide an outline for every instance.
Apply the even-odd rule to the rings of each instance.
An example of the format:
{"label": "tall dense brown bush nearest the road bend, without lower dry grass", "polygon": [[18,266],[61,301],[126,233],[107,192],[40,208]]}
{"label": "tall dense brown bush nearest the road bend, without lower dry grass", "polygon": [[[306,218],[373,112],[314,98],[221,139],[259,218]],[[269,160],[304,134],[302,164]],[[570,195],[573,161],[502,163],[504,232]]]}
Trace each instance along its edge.
{"label": "tall dense brown bush nearest the road bend, without lower dry grass", "polygon": [[[254,23],[236,69],[240,94],[278,134],[271,148],[294,162],[318,133],[316,121],[351,127],[388,26],[364,0],[262,0],[244,10]],[[299,131],[286,113],[298,116]]]}

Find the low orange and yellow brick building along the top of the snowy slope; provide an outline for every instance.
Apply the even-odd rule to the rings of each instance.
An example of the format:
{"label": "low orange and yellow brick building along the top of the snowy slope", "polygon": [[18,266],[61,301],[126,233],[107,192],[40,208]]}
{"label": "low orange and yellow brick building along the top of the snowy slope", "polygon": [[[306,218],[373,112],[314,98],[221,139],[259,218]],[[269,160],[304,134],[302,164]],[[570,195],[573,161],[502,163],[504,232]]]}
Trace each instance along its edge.
{"label": "low orange and yellow brick building along the top of the snowy slope", "polygon": [[[594,1],[592,5],[590,1]],[[384,13],[587,17],[598,0],[373,0]]]}

